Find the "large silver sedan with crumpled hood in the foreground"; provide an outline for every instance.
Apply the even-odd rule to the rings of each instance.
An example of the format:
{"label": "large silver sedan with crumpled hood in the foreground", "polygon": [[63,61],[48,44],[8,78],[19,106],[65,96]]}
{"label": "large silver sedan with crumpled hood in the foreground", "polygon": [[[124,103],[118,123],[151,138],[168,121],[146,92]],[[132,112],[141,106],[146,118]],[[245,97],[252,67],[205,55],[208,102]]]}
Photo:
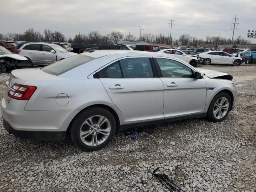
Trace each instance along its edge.
{"label": "large silver sedan with crumpled hood in the foreground", "polygon": [[14,136],[99,150],[127,128],[206,117],[220,122],[236,102],[232,76],[169,54],[98,50],[43,68],[13,70],[2,100]]}

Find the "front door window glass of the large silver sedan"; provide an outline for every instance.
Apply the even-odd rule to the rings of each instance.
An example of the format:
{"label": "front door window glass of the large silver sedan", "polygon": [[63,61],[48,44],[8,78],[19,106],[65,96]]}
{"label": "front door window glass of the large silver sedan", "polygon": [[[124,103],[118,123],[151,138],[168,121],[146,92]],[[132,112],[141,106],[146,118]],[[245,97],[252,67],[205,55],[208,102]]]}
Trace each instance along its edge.
{"label": "front door window glass of the large silver sedan", "polygon": [[192,70],[184,64],[171,60],[156,58],[162,77],[166,78],[192,78]]}

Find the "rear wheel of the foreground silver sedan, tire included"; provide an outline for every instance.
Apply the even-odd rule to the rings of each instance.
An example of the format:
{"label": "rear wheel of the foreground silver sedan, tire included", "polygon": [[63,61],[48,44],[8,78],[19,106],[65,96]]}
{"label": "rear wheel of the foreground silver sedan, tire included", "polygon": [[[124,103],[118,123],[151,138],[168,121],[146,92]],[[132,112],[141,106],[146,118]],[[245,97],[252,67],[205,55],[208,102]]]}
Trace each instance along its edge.
{"label": "rear wheel of the foreground silver sedan, tire included", "polygon": [[[106,121],[103,119],[104,123],[98,126],[97,122],[100,122],[102,117],[106,118]],[[84,135],[80,136],[81,131]],[[83,110],[75,117],[70,126],[70,136],[74,144],[83,151],[95,151],[104,148],[112,140],[115,132],[114,116],[101,107]]]}

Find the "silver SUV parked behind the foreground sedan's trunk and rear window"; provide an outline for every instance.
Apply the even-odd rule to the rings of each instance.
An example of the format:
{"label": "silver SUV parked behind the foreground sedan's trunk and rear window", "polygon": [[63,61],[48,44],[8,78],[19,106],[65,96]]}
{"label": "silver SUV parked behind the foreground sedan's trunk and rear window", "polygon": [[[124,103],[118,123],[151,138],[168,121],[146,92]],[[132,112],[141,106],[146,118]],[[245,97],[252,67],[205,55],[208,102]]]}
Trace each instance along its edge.
{"label": "silver SUV parked behind the foreground sedan's trunk and rear window", "polygon": [[19,48],[18,54],[28,58],[34,65],[49,65],[56,61],[76,55],[54,43],[27,43]]}

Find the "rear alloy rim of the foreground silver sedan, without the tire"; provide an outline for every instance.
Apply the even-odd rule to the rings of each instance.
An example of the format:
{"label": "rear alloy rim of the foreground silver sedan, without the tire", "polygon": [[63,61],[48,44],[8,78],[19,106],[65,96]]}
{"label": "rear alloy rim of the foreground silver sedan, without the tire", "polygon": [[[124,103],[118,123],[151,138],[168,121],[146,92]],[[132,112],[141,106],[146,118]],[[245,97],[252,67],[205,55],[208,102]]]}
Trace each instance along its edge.
{"label": "rear alloy rim of the foreground silver sedan, without the tire", "polygon": [[111,130],[109,120],[101,115],[91,116],[80,128],[80,139],[88,146],[98,146],[108,138]]}

